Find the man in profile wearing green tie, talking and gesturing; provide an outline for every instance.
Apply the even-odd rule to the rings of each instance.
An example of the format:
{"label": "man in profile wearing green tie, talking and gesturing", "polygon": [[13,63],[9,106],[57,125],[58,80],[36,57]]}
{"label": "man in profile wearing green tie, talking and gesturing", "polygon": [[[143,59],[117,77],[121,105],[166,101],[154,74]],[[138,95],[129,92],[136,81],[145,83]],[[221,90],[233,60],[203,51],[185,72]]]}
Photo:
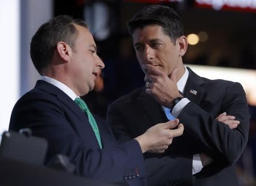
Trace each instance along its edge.
{"label": "man in profile wearing green tie, talking and gesturing", "polygon": [[[31,40],[30,54],[42,79],[15,104],[9,129],[29,127],[33,135],[46,138],[46,164],[56,154],[64,154],[75,164],[77,175],[145,185],[142,153],[167,148],[183,133],[179,120],[159,123],[125,143],[115,142],[109,126],[80,99],[94,88],[97,73],[104,68],[93,36],[81,20],[57,16],[44,23]],[[168,159],[160,162],[162,166],[150,167],[152,172],[147,174],[170,163]],[[189,166],[188,161],[182,164]]]}

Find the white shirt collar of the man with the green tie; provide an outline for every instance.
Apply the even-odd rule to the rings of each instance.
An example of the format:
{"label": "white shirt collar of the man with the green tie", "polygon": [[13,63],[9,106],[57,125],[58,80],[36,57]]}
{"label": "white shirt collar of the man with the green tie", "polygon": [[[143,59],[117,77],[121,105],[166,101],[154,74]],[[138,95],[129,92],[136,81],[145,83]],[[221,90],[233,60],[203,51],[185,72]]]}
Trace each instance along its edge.
{"label": "white shirt collar of the man with the green tie", "polygon": [[41,80],[49,82],[50,84],[57,86],[60,90],[62,90],[65,94],[67,94],[72,100],[75,100],[78,96],[76,96],[76,93],[73,92],[71,88],[69,88],[67,85],[63,84],[60,81],[57,81],[51,77],[42,76]]}

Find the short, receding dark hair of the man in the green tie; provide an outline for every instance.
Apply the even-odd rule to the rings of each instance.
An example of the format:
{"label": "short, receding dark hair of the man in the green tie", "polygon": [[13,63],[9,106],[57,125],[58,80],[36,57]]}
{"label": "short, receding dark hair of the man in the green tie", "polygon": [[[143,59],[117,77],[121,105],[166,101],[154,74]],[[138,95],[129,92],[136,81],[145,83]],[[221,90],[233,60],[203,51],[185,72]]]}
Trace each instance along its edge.
{"label": "short, receding dark hair of the man in the green tie", "polygon": [[75,24],[88,28],[81,19],[59,15],[42,24],[36,31],[30,43],[30,56],[40,75],[43,69],[51,64],[57,43],[65,42],[75,50],[74,45],[78,36]]}

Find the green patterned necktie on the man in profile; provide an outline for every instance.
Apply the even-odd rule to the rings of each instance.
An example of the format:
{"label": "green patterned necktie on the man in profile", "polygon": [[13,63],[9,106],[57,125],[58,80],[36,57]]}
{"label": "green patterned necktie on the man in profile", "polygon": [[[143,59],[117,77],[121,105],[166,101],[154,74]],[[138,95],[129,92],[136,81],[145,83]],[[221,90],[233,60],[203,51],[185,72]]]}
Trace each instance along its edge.
{"label": "green patterned necktie on the man in profile", "polygon": [[87,114],[90,125],[92,126],[94,134],[96,135],[96,138],[98,140],[98,144],[100,145],[100,148],[102,148],[100,131],[98,130],[98,125],[93,118],[92,113],[90,113],[88,106],[85,104],[84,100],[78,97],[75,99],[75,103],[82,109],[84,113]]}

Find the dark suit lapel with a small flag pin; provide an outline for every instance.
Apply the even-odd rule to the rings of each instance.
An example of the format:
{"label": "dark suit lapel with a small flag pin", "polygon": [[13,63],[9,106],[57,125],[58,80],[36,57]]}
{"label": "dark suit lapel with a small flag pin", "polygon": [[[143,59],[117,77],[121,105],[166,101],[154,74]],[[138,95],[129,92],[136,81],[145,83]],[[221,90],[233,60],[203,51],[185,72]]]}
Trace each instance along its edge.
{"label": "dark suit lapel with a small flag pin", "polygon": [[199,105],[204,97],[205,89],[201,86],[204,84],[202,78],[197,76],[190,68],[188,68],[189,75],[184,88],[184,97],[192,101],[194,104]]}

